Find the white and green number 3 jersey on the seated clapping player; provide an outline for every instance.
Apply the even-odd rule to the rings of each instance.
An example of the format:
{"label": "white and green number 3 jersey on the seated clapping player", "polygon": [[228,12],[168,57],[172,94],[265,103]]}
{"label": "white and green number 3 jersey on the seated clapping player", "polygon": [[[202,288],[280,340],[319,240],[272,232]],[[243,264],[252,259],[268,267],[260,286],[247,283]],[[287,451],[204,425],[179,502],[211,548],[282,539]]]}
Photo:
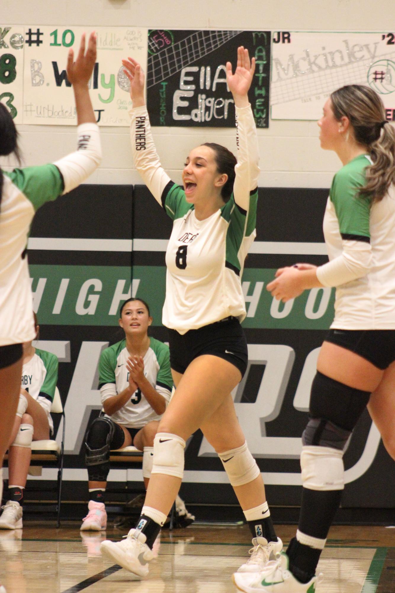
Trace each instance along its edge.
{"label": "white and green number 3 jersey on the seated clapping player", "polygon": [[[126,368],[129,356],[126,339],[103,350],[99,361],[99,388],[102,403],[108,397],[113,397],[129,387],[129,371]],[[168,404],[173,387],[169,347],[150,337],[149,349],[143,360],[145,377]],[[160,419],[140,389],[134,391],[130,400],[110,417],[117,424],[129,426],[129,428],[142,428],[147,422]]]}

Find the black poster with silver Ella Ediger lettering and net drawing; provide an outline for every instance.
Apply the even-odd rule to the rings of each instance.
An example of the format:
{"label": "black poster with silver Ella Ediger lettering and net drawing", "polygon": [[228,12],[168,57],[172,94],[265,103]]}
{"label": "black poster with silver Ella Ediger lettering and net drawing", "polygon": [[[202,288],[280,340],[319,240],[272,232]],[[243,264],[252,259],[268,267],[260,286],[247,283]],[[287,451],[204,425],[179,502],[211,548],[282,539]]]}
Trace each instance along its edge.
{"label": "black poster with silver Ella Ediger lettering and net drawing", "polygon": [[226,62],[255,56],[249,92],[257,127],[269,125],[270,31],[149,30],[147,107],[153,126],[235,126]]}

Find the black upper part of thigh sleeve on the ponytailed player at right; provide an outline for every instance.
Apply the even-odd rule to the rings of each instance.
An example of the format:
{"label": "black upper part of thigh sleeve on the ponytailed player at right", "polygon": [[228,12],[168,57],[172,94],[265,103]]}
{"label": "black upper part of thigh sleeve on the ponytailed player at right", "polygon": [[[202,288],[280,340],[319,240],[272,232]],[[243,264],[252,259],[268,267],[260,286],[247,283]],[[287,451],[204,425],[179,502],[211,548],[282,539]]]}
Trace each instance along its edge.
{"label": "black upper part of thigh sleeve on the ponytailed player at right", "polygon": [[310,417],[353,431],[370,398],[369,391],[348,387],[317,371],[311,384]]}

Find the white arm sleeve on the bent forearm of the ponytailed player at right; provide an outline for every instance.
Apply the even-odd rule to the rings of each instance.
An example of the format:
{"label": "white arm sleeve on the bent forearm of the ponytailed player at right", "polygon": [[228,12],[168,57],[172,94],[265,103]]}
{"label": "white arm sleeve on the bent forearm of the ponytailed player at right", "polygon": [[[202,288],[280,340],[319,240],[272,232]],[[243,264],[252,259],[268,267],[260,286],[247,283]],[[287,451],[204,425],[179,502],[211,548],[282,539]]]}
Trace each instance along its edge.
{"label": "white arm sleeve on the bent forearm of the ponytailed player at right", "polygon": [[367,275],[372,260],[372,248],[365,241],[343,240],[343,253],[317,267],[317,278],[323,286],[340,286]]}

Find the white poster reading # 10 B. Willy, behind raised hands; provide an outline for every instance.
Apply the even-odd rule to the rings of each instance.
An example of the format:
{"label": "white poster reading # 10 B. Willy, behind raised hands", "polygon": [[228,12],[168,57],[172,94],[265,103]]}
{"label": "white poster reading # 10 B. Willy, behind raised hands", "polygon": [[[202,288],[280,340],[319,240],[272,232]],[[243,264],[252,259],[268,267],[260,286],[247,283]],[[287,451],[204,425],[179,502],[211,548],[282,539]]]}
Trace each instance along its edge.
{"label": "white poster reading # 10 B. Willy, behind raised hands", "polygon": [[[75,103],[66,77],[70,47],[78,53],[81,34],[93,27],[25,26],[23,123],[75,125]],[[147,29],[98,27],[97,62],[90,82],[97,122],[129,126],[129,81],[121,59],[132,56],[146,69]]]}

